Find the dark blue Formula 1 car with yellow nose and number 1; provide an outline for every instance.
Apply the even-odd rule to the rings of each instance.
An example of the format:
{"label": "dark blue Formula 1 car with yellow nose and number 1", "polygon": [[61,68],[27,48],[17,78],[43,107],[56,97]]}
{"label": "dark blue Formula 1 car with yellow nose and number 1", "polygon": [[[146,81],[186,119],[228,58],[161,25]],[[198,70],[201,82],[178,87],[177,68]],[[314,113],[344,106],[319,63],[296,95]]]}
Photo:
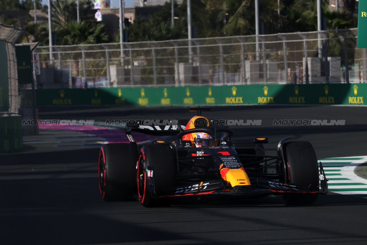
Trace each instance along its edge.
{"label": "dark blue Formula 1 car with yellow nose and number 1", "polygon": [[[263,197],[283,195],[288,204],[310,204],[328,191],[327,180],[315,150],[306,141],[278,144],[277,156],[265,154],[267,138],[232,142],[233,130],[212,126],[197,111],[183,127],[179,120],[159,125],[145,120],[126,124],[130,143],[109,143],[99,153],[99,189],[105,201],[131,200],[137,197],[145,207],[169,206],[172,199],[201,196]],[[167,123],[167,122],[166,122]],[[170,124],[170,125],[169,125]],[[177,136],[143,145],[132,132],[157,136]],[[246,142],[245,142],[246,143]],[[267,173],[275,164],[276,173]]]}

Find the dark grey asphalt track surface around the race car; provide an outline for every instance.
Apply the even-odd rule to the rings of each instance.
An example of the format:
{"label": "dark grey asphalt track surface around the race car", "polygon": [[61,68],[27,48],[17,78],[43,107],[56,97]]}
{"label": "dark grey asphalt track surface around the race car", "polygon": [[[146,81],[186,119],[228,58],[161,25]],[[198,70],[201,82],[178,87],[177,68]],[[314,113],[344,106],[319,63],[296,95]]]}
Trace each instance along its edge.
{"label": "dark grey asphalt track surface around the race car", "polygon": [[[42,107],[43,119],[189,119],[184,107]],[[234,141],[269,138],[267,154],[287,136],[310,141],[317,158],[365,156],[367,107],[212,107],[213,119],[262,120],[235,126]],[[275,126],[273,120],[346,120],[344,126]],[[50,133],[50,132],[48,132]],[[55,132],[55,135],[59,135]],[[98,141],[99,139],[96,139]],[[52,143],[54,144],[54,143]],[[26,144],[0,155],[1,244],[366,244],[367,199],[329,193],[313,205],[288,206],[281,196],[231,202],[104,202],[98,146]],[[45,150],[44,150],[45,149]],[[46,150],[47,149],[47,150]],[[53,150],[54,149],[54,150]]]}

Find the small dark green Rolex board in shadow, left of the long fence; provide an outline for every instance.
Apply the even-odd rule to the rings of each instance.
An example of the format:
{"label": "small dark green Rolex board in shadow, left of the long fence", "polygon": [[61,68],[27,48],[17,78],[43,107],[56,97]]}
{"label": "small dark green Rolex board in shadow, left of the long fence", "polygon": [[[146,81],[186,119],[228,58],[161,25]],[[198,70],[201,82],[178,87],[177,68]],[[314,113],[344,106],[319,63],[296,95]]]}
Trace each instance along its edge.
{"label": "small dark green Rolex board in shadow, left of the long fence", "polygon": [[18,84],[32,84],[32,54],[30,46],[16,46],[15,55],[17,56]]}

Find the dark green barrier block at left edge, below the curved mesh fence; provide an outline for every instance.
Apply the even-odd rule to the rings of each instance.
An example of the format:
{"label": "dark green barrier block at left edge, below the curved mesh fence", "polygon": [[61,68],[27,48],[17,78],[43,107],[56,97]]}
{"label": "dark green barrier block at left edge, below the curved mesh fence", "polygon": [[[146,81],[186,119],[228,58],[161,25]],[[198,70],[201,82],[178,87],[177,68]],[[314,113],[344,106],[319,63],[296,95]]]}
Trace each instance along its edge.
{"label": "dark green barrier block at left edge, below the curved mesh fence", "polygon": [[23,148],[22,117],[0,117],[0,153]]}

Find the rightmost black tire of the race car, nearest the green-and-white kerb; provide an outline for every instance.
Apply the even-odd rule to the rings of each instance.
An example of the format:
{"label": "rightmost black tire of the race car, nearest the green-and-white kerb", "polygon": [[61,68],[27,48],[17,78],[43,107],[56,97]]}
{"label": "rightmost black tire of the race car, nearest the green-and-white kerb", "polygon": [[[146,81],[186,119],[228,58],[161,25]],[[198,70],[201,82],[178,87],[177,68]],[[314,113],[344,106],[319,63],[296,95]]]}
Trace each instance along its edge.
{"label": "rightmost black tire of the race car, nearest the green-and-white kerb", "polygon": [[[310,191],[319,191],[319,167],[311,143],[287,142],[283,149],[289,175],[287,182],[305,187],[310,185]],[[283,198],[289,205],[308,205],[316,202],[318,196],[318,193],[294,193],[283,195]]]}

